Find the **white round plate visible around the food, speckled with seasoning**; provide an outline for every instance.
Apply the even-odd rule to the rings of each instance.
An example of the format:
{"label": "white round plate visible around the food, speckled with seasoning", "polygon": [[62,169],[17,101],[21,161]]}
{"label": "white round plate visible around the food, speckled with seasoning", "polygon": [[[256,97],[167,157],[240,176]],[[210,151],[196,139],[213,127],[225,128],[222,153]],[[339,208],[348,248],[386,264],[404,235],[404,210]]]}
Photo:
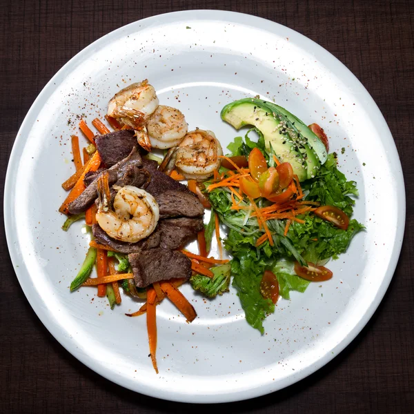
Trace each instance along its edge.
{"label": "white round plate visible around the food, speckled with seasoning", "polygon": [[[73,170],[70,135],[79,117],[105,115],[108,99],[148,78],[160,103],[190,128],[215,131],[223,147],[240,135],[219,117],[230,101],[261,95],[307,124],[317,122],[357,181],[354,217],[366,226],[329,265],[334,277],[281,300],[264,328],[248,326],[239,299],[184,294],[192,324],[164,301],[157,308],[159,375],[148,357],[145,317],[124,297],[110,311],[94,288],[70,293],[88,236],[65,233],[57,209]],[[83,139],[83,138],[82,138]],[[86,141],[85,141],[86,142]],[[342,153],[344,148],[344,153]],[[361,331],[393,276],[405,200],[400,160],[388,126],[361,83],[326,50],[277,23],[210,10],[162,14],[102,37],[71,59],[33,103],[14,143],[4,219],[12,262],[32,308],[83,364],[139,393],[181,402],[230,402],[271,393],[306,377]],[[390,215],[389,212],[393,214]]]}

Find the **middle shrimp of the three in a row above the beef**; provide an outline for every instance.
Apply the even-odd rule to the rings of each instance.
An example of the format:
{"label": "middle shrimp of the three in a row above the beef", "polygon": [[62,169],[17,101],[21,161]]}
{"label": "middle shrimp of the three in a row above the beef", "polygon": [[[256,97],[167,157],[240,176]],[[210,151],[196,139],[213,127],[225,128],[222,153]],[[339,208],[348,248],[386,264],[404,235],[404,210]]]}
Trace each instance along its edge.
{"label": "middle shrimp of the three in a row above the beef", "polygon": [[177,146],[188,128],[181,111],[164,105],[152,113],[146,126],[151,145],[161,150]]}

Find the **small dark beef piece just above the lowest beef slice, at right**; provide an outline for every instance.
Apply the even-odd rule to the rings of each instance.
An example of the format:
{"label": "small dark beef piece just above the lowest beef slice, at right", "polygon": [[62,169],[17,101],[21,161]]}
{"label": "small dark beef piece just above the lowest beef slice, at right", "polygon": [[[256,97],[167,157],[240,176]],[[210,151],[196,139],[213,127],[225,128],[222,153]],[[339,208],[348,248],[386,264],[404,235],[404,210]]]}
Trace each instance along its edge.
{"label": "small dark beef piece just above the lowest beef slice, at right", "polygon": [[175,250],[194,239],[204,224],[201,217],[165,219],[158,222],[157,229],[161,232],[160,246]]}

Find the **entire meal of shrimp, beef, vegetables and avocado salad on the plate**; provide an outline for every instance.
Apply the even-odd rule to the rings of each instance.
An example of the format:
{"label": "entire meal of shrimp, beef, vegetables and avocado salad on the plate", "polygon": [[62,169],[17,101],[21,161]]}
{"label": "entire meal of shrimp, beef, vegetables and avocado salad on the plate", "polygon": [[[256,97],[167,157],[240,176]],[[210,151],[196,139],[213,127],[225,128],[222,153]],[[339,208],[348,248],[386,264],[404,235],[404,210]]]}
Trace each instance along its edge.
{"label": "entire meal of shrimp, beef, vegetables and avocado salad on the plate", "polygon": [[[97,286],[111,309],[121,292],[144,301],[126,315],[146,315],[157,373],[157,305],[169,299],[188,322],[197,317],[179,286],[213,299],[231,283],[246,321],[264,333],[277,301],[331,279],[328,260],[363,228],[351,219],[355,182],[338,170],[317,124],[257,98],[229,103],[221,119],[251,126],[227,155],[213,131],[188,131],[184,115],[159,105],[143,81],[110,99],[108,125],[92,121],[98,134],[81,120],[83,160],[72,136],[76,172],[62,185],[70,193],[59,211],[68,216],[63,230],[85,220],[90,247],[70,290]],[[213,237],[219,257],[210,255]],[[186,249],[193,239],[197,253]]]}

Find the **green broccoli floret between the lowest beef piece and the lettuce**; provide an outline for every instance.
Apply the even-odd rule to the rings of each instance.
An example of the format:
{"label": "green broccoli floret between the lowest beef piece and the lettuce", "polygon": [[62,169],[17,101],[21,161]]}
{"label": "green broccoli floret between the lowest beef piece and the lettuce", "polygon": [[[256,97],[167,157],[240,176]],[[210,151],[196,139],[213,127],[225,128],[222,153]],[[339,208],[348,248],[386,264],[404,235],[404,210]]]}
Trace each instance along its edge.
{"label": "green broccoli floret between the lowest beef piece and the lettuce", "polygon": [[190,284],[194,290],[207,297],[223,295],[224,292],[228,292],[230,285],[230,268],[230,263],[213,267],[210,269],[214,274],[213,277],[193,275],[190,277]]}

